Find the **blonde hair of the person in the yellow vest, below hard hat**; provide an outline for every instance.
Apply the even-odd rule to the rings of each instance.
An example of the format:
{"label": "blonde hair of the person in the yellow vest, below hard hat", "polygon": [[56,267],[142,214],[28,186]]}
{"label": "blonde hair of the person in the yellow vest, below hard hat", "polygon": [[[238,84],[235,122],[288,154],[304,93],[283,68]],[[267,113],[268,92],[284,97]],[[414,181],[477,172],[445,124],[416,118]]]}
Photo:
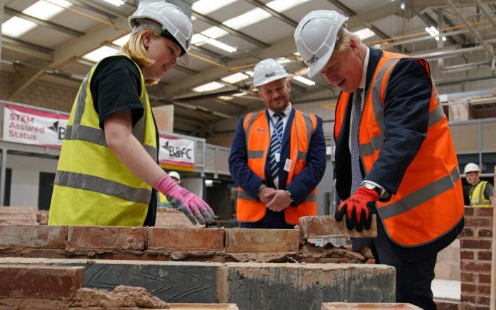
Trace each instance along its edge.
{"label": "blonde hair of the person in the yellow vest, below hard hat", "polygon": [[[143,35],[146,31],[151,31],[154,37],[160,37],[157,32],[151,29],[140,30],[139,32],[131,34],[129,41],[120,48],[120,52],[129,56],[140,68],[150,67],[155,63],[155,60],[149,58],[148,51],[146,51],[145,44],[143,43]],[[158,84],[158,79],[146,79],[145,84]]]}

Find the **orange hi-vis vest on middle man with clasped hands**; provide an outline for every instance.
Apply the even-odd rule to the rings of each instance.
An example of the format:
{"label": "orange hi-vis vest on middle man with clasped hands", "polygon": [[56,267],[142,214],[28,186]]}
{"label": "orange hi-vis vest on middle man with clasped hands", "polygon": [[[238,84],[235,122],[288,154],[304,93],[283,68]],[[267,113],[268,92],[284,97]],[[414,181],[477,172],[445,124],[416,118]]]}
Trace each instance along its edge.
{"label": "orange hi-vis vest on middle man with clasped hands", "polygon": [[[290,154],[291,167],[286,184],[289,185],[293,177],[298,175],[307,166],[307,153],[310,147],[310,138],[317,127],[317,117],[295,110],[295,117],[291,124]],[[243,128],[248,150],[248,167],[261,179],[265,180],[265,163],[269,154],[270,129],[265,110],[246,115]],[[260,221],[265,216],[265,203],[253,199],[238,187],[238,201],[236,216],[241,222]],[[298,224],[300,217],[317,214],[317,188],[297,207],[289,206],[284,209],[284,219],[288,224]]]}

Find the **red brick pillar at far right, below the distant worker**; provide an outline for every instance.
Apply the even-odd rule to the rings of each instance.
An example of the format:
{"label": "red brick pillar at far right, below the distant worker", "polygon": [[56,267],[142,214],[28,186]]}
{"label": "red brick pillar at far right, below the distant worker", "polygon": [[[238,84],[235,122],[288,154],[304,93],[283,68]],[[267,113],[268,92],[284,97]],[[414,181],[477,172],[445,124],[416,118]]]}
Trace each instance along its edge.
{"label": "red brick pillar at far right, below the distant worker", "polygon": [[491,283],[492,207],[465,208],[460,236],[462,310],[488,310]]}

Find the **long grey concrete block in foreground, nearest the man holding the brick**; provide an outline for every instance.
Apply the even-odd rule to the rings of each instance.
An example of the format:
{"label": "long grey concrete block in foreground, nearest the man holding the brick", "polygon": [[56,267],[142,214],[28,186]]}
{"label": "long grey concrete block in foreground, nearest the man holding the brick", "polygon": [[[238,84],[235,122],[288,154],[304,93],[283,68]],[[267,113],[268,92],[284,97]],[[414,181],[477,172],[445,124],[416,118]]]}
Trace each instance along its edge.
{"label": "long grey concrete block in foreground, nearest the man holding the brick", "polygon": [[[243,310],[321,309],[322,302],[394,302],[395,269],[369,264],[224,264],[222,302]],[[290,306],[291,305],[291,306]]]}

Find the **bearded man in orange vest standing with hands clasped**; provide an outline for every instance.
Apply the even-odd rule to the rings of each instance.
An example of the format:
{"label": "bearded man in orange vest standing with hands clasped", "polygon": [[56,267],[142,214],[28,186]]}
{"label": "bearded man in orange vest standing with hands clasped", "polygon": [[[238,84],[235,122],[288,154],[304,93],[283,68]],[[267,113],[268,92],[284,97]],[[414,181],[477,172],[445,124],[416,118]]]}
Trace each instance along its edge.
{"label": "bearded man in orange vest standing with hands clasped", "polygon": [[317,214],[316,186],[326,169],[322,119],[292,107],[287,76],[274,59],[257,63],[253,84],[267,109],[241,117],[234,133],[229,171],[244,228],[293,228]]}

